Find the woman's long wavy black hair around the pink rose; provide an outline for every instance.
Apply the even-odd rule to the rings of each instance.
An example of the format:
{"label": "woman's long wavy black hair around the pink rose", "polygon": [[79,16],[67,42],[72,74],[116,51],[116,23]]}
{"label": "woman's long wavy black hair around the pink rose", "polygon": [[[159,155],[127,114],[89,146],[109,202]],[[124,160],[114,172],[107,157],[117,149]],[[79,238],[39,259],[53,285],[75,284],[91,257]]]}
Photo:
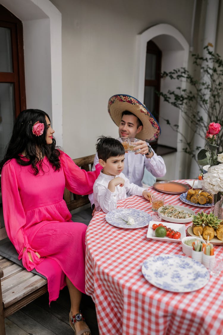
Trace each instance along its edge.
{"label": "woman's long wavy black hair around the pink rose", "polygon": [[[60,170],[60,151],[55,148],[55,138],[52,138],[52,144],[46,143],[47,124],[45,116],[49,119],[48,114],[39,109],[27,109],[19,114],[13,127],[6,154],[0,162],[0,172],[8,160],[15,158],[21,165],[31,165],[34,175],[37,175],[39,170],[42,170],[44,156],[48,158],[54,170]],[[32,133],[32,127],[37,121],[44,124],[43,134],[40,136],[35,136]],[[26,159],[21,156],[22,152],[25,152]],[[36,166],[37,163],[39,163],[38,167]]]}

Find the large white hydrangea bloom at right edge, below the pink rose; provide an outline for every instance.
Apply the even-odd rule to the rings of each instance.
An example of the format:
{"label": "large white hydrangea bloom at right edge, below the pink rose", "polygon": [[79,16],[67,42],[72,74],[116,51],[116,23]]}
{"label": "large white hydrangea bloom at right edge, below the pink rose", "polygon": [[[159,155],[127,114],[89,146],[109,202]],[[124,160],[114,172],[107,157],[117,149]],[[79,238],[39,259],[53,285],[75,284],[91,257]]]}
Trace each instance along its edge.
{"label": "large white hydrangea bloom at right edge, below the pink rose", "polygon": [[203,175],[202,187],[212,194],[223,192],[223,164],[209,167]]}

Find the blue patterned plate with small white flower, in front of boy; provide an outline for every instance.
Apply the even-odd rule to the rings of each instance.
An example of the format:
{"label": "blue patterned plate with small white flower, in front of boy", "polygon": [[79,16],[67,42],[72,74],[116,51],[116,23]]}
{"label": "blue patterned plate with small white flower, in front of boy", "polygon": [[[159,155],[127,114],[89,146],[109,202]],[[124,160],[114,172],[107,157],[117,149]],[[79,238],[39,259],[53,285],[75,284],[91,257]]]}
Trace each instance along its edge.
{"label": "blue patterned plate with small white flower, in front of boy", "polygon": [[[129,216],[134,218],[135,224],[130,225],[127,224],[127,222],[123,221],[123,220],[128,221]],[[149,215],[146,212],[143,212],[140,209],[119,208],[108,212],[105,215],[105,219],[108,223],[110,223],[115,227],[134,229],[147,226],[152,218],[151,215]]]}

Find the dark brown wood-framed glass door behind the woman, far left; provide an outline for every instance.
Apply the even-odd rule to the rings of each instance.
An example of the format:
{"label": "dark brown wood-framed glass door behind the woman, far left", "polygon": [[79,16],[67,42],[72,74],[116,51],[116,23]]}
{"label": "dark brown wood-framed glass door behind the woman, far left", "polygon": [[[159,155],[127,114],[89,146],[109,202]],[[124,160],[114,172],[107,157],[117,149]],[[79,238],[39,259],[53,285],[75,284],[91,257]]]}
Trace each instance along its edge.
{"label": "dark brown wood-framed glass door behind the woman, far left", "polygon": [[0,159],[14,121],[26,109],[22,22],[0,5]]}

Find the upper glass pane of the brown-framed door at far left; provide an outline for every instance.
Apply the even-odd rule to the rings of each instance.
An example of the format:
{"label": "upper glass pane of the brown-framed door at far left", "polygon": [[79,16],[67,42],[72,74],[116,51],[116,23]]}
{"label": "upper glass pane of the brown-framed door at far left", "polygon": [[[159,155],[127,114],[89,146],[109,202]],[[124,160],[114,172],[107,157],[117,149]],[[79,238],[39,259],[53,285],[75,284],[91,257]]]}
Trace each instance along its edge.
{"label": "upper glass pane of the brown-framed door at far left", "polygon": [[12,72],[11,30],[0,27],[0,72]]}

